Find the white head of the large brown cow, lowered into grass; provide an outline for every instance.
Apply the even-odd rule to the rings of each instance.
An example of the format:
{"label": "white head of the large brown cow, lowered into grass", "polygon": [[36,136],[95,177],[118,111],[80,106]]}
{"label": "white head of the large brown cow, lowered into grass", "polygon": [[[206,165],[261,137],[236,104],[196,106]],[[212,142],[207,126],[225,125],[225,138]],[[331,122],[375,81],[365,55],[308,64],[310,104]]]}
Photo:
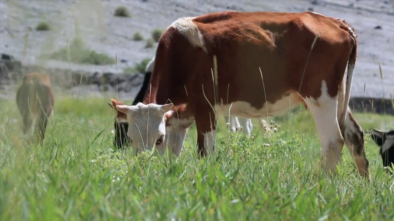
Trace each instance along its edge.
{"label": "white head of the large brown cow, lowered into grass", "polygon": [[153,145],[165,142],[165,113],[171,110],[172,103],[158,105],[154,103],[136,105],[116,105],[119,112],[126,114],[128,122],[127,135],[131,146],[138,152],[151,150]]}

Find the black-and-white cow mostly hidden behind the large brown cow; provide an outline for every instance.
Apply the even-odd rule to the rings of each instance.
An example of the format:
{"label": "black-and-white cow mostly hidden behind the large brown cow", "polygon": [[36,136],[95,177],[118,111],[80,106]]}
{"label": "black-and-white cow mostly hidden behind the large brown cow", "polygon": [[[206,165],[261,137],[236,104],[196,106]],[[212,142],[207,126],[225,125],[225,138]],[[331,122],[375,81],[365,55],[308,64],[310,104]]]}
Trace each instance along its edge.
{"label": "black-and-white cow mostly hidden behind the large brown cow", "polygon": [[[154,57],[146,66],[145,69],[145,77],[142,83],[141,89],[139,90],[136,98],[132,105],[136,105],[139,102],[143,101],[143,97],[149,85],[149,79],[151,79],[152,69],[154,65]],[[118,101],[116,99],[111,99],[111,102],[108,102],[108,105],[115,109],[116,105],[124,105],[122,101]],[[115,109],[116,110],[116,109]],[[113,145],[118,147],[118,149],[122,149],[124,145],[128,145],[130,143],[130,138],[126,135],[128,130],[128,122],[126,118],[122,118],[123,114],[117,111],[117,116],[115,117],[114,127],[115,127],[115,139],[113,140]],[[252,133],[252,120],[247,118],[236,118],[236,117],[228,117],[224,116],[225,121],[230,123],[232,132],[236,132],[238,128],[242,128],[243,134],[250,136]],[[260,126],[262,129],[269,130],[269,125],[265,120],[261,120]],[[264,128],[263,128],[264,127]]]}

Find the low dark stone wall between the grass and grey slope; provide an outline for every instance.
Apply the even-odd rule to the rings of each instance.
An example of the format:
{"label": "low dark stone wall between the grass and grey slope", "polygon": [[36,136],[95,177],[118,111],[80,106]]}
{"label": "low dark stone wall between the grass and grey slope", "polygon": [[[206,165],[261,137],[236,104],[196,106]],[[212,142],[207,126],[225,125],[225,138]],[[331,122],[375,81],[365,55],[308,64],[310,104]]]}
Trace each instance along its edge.
{"label": "low dark stone wall between the grass and grey slope", "polygon": [[[114,74],[110,72],[83,72],[58,68],[45,69],[40,66],[23,66],[11,55],[2,54],[0,60],[0,86],[19,83],[22,77],[30,72],[47,72],[51,75],[52,83],[60,88],[72,88],[79,85],[97,85],[98,90],[107,91],[116,88],[118,92],[130,92],[132,88],[140,88],[143,74]],[[351,97],[349,107],[355,112],[394,115],[391,99]]]}

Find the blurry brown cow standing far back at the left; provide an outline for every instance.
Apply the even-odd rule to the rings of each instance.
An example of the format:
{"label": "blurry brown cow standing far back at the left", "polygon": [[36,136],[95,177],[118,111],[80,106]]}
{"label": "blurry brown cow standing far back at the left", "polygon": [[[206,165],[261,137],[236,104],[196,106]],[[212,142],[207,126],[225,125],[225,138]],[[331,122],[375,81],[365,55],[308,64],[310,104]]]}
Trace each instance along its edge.
{"label": "blurry brown cow standing far back at the left", "polygon": [[49,75],[37,72],[26,74],[18,88],[16,101],[22,115],[23,133],[28,136],[34,133],[35,138],[42,143],[48,117],[54,106]]}

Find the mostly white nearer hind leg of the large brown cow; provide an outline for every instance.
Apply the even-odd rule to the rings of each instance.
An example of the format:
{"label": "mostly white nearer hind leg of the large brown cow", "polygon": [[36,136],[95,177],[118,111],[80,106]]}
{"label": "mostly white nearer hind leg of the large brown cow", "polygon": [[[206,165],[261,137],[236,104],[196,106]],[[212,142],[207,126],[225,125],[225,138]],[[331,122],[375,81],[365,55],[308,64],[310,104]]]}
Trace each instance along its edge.
{"label": "mostly white nearer hind leg of the large brown cow", "polygon": [[320,141],[323,144],[323,170],[326,174],[335,174],[344,145],[338,124],[338,96],[331,98],[325,81],[322,82],[322,94],[318,99],[304,98],[312,112]]}

